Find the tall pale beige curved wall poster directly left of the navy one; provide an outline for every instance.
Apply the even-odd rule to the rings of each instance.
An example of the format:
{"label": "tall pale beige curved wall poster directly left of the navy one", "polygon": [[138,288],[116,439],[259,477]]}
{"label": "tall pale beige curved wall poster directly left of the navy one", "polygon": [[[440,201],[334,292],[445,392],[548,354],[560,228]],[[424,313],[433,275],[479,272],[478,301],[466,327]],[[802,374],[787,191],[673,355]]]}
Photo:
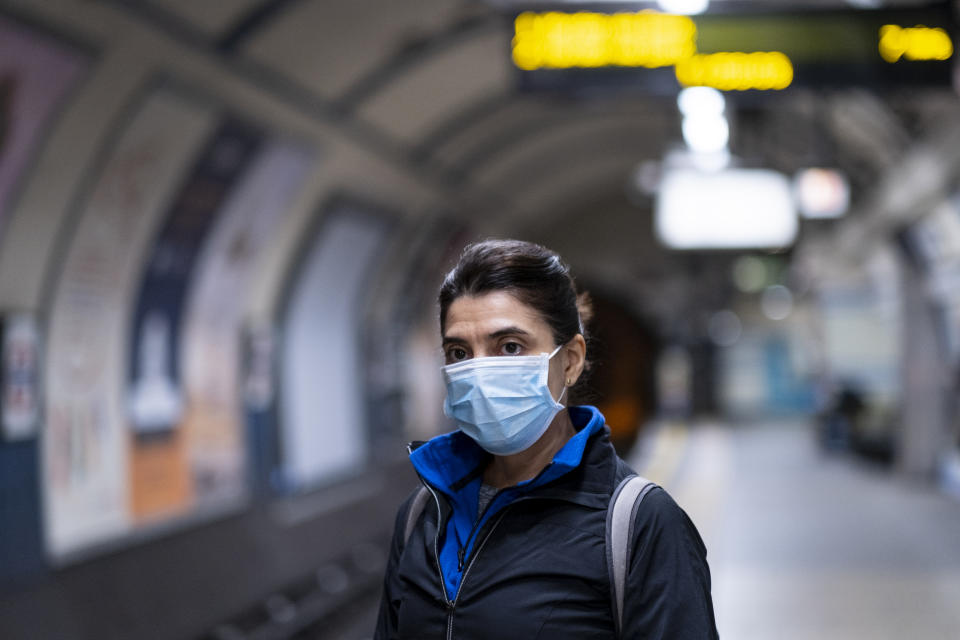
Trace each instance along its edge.
{"label": "tall pale beige curved wall poster directly left of the navy one", "polygon": [[161,207],[214,126],[205,108],[150,95],[78,212],[50,303],[42,478],[55,558],[131,530],[123,396],[137,274]]}

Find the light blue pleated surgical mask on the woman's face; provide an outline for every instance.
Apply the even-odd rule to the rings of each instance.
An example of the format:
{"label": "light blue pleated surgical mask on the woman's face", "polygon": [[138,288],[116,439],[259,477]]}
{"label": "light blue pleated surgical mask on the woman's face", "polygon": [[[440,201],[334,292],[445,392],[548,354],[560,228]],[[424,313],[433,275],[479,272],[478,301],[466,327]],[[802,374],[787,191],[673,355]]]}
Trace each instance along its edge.
{"label": "light blue pleated surgical mask on the woman's face", "polygon": [[443,412],[494,455],[528,449],[563,409],[547,386],[550,358],[558,351],[560,347],[549,355],[473,358],[445,366]]}

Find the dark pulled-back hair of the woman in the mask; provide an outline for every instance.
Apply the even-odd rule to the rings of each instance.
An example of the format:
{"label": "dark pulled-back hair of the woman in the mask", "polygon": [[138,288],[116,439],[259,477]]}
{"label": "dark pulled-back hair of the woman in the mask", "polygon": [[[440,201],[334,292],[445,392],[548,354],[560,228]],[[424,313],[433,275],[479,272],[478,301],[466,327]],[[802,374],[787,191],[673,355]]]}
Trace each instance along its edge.
{"label": "dark pulled-back hair of the woman in the mask", "polygon": [[446,329],[447,310],[461,296],[506,291],[536,309],[550,325],[554,344],[569,342],[592,311],[586,293],[577,294],[570,269],[560,256],[522,240],[484,240],[467,245],[460,261],[440,285],[440,331]]}

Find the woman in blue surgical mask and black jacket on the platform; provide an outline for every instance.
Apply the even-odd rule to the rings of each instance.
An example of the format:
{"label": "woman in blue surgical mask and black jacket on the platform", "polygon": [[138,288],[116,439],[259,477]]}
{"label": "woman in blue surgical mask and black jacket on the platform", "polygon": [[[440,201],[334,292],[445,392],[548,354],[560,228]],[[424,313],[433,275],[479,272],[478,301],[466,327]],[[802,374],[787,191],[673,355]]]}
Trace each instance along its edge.
{"label": "woman in blue surgical mask and black jacket on the platform", "polygon": [[[459,427],[410,460],[430,498],[401,506],[376,638],[613,638],[607,506],[632,472],[594,407],[564,406],[586,363],[588,315],[559,256],[488,240],[440,288]],[[706,549],[662,489],[632,527],[620,637],[716,638]]]}

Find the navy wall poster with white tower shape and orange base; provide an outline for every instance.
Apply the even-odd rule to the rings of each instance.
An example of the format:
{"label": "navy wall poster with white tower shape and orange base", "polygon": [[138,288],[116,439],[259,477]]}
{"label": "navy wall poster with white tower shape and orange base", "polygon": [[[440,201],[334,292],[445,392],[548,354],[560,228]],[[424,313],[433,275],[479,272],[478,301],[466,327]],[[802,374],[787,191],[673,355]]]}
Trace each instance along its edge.
{"label": "navy wall poster with white tower shape and orange base", "polygon": [[131,509],[137,522],[182,514],[197,499],[190,443],[181,428],[186,398],[179,347],[187,293],[217,216],[262,142],[259,130],[222,122],[193,162],[147,252],[127,374]]}

